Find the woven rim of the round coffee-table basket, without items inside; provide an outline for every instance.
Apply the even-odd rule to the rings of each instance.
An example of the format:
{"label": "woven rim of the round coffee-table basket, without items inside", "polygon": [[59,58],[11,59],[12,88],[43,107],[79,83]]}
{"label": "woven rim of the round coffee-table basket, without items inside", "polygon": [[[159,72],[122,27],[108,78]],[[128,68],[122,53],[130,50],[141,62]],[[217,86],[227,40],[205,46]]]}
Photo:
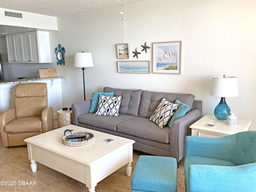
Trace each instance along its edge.
{"label": "woven rim of the round coffee-table basket, without items inside", "polygon": [[[69,130],[65,130],[64,136],[62,138],[62,143],[65,144],[65,145],[68,145],[68,146],[82,146],[82,145],[88,145],[88,144],[94,142],[94,136],[90,132],[75,132],[73,134],[66,134],[66,131],[69,131]],[[84,136],[84,135],[88,136],[87,140],[79,141],[79,142],[67,141],[69,136],[73,137],[73,136]]]}

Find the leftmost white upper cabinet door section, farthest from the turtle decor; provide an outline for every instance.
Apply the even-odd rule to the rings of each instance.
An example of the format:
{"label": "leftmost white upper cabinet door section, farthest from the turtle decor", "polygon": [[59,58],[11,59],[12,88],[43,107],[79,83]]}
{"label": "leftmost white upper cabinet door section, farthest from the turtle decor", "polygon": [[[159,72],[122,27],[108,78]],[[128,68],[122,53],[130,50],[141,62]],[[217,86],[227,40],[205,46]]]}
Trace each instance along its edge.
{"label": "leftmost white upper cabinet door section, farthest from the turtle decor", "polygon": [[7,55],[9,63],[22,63],[20,34],[6,35]]}

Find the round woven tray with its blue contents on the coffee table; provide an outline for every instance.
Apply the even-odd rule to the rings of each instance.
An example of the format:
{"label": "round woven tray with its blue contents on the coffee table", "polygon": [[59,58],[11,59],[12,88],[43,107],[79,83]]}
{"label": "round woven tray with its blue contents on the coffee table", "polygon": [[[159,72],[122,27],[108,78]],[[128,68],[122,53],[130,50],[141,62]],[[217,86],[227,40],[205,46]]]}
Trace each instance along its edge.
{"label": "round woven tray with its blue contents on the coffee table", "polygon": [[[66,132],[70,132],[66,134]],[[70,130],[64,131],[64,136],[62,138],[62,143],[68,146],[82,146],[88,145],[94,142],[94,135],[90,132],[74,132],[72,133]]]}

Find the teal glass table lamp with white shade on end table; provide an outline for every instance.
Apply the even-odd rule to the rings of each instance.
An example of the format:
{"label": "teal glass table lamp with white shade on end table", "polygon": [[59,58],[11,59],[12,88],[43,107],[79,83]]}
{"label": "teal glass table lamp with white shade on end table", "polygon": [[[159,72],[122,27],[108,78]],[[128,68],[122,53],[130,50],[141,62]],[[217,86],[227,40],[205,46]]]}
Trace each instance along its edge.
{"label": "teal glass table lamp with white shade on end table", "polygon": [[225,98],[238,96],[237,78],[226,75],[213,76],[210,95],[221,97],[220,103],[214,109],[214,116],[218,120],[226,120],[231,110]]}

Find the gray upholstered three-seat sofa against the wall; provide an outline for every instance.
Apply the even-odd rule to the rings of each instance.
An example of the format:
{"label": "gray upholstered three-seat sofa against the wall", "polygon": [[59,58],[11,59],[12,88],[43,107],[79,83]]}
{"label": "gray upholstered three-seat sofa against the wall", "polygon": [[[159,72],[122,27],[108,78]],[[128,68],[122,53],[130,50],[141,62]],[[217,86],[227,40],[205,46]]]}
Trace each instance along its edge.
{"label": "gray upholstered three-seat sofa against the wall", "polygon": [[[202,117],[202,101],[193,94],[152,92],[105,87],[103,92],[122,96],[119,116],[97,116],[89,112],[91,100],[72,104],[73,124],[100,132],[135,140],[133,148],[157,156],[170,156],[177,162],[184,157],[184,142],[191,135],[189,126]],[[165,98],[189,106],[186,114],[175,120],[169,128],[160,128],[150,116]]]}

